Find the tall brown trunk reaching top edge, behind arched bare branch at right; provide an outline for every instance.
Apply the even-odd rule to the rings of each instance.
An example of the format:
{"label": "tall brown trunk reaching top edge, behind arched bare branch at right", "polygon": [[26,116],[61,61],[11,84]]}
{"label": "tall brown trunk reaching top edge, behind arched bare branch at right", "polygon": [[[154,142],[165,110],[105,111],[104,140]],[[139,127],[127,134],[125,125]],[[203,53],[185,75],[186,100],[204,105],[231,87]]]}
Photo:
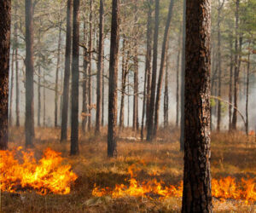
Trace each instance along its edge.
{"label": "tall brown trunk reaching top edge, behind arched bare branch at right", "polygon": [[233,118],[232,118],[232,130],[236,130],[236,122],[237,122],[237,96],[239,89],[239,67],[238,67],[238,25],[239,25],[239,4],[240,0],[236,0],[236,27],[235,27],[235,73],[234,73],[234,110],[233,110]]}

